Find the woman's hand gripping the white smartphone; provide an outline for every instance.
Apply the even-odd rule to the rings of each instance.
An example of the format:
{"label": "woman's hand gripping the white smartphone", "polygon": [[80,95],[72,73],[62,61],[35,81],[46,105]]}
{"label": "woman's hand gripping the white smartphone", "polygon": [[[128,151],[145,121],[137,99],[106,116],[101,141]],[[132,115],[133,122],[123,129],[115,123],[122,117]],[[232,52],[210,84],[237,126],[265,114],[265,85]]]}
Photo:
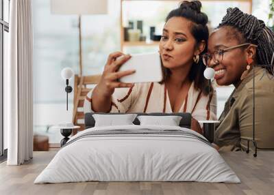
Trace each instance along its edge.
{"label": "woman's hand gripping the white smartphone", "polygon": [[[117,59],[119,58],[119,59]],[[97,90],[101,95],[109,97],[114,93],[115,88],[132,87],[133,83],[119,82],[118,79],[123,76],[134,74],[135,70],[125,70],[117,72],[119,67],[131,58],[130,55],[124,55],[122,52],[113,52],[108,56],[108,61],[105,64],[101,80],[97,85]]]}

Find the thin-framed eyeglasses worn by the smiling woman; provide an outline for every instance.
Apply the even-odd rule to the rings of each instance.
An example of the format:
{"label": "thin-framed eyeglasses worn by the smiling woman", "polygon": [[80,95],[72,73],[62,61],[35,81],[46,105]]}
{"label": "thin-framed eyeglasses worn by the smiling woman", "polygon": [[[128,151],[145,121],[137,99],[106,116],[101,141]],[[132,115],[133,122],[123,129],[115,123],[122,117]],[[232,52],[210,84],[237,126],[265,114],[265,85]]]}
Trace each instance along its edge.
{"label": "thin-framed eyeglasses worn by the smiling woman", "polygon": [[240,48],[242,46],[248,46],[248,45],[256,46],[254,44],[246,43],[246,44],[240,44],[240,45],[232,46],[232,47],[225,48],[225,49],[214,50],[213,54],[206,52],[205,54],[203,54],[203,64],[208,66],[212,59],[213,59],[214,63],[221,63],[221,61],[223,61],[223,54],[225,52],[232,50],[234,48]]}

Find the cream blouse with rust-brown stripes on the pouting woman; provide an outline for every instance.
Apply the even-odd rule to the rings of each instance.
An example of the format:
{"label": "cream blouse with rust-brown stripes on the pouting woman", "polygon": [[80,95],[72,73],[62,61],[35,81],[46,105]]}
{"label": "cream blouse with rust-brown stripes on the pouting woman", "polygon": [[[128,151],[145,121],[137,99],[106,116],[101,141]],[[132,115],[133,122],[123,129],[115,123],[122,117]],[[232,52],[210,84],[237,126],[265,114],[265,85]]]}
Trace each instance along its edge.
{"label": "cream blouse with rust-brown stripes on the pouting woman", "polygon": [[[92,90],[86,95],[84,112],[91,109]],[[169,93],[159,82],[140,82],[131,88],[116,88],[110,112],[172,112]],[[192,82],[179,112],[190,112],[197,120],[216,120],[216,91],[203,95]]]}

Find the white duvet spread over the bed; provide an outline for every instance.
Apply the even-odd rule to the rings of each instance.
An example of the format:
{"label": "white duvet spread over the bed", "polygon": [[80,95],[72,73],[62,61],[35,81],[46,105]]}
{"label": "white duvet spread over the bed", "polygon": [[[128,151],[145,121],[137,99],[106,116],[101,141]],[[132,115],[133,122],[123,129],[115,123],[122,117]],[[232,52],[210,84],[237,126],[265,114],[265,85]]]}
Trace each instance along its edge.
{"label": "white duvet spread over the bed", "polygon": [[[172,134],[83,136],[99,130],[181,130]],[[97,131],[97,132],[95,132]],[[172,132],[172,131],[171,131]],[[82,137],[83,136],[83,137]],[[197,138],[194,138],[197,137]],[[240,183],[218,151],[182,127],[92,127],[73,136],[34,183],[77,181],[201,181]],[[205,138],[203,138],[205,139]]]}

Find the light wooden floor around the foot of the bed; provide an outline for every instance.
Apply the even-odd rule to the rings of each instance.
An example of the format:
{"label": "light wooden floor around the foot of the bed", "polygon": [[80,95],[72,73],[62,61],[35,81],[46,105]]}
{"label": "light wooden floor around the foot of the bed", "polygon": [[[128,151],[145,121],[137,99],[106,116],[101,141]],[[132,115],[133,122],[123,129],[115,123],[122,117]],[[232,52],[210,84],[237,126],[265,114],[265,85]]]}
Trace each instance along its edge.
{"label": "light wooden floor around the foot of the bed", "polygon": [[0,164],[0,194],[274,194],[274,151],[221,153],[242,183],[198,182],[83,182],[33,184],[55,151],[34,152],[22,166]]}

